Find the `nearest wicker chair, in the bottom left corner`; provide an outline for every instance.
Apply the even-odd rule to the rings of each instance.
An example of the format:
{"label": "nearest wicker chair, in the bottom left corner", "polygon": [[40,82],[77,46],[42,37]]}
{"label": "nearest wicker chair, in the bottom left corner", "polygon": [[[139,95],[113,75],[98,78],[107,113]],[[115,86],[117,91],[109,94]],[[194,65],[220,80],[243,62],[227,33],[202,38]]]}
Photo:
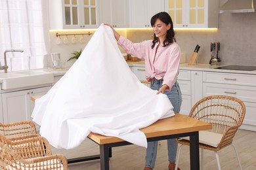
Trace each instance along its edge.
{"label": "nearest wicker chair, in the bottom left corner", "polygon": [[60,154],[38,158],[22,158],[5,143],[0,142],[0,169],[68,169],[66,157]]}

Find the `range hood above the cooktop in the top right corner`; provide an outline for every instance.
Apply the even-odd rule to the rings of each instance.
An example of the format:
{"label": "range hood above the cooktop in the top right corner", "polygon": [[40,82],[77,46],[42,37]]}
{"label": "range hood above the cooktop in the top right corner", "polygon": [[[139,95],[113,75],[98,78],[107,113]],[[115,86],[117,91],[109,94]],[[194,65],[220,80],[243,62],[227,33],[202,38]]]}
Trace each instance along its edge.
{"label": "range hood above the cooktop in the top right corner", "polygon": [[219,14],[255,12],[253,0],[221,0]]}

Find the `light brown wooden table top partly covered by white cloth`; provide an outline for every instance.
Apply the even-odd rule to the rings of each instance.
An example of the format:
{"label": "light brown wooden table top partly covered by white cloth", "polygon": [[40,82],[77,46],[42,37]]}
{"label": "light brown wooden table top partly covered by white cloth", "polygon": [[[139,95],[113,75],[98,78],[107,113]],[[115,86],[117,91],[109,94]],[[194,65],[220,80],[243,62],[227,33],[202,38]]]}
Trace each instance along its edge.
{"label": "light brown wooden table top partly covered by white cloth", "polygon": [[[158,120],[154,124],[140,129],[140,131],[144,132],[148,138],[208,130],[211,128],[211,124],[190,118],[183,114],[176,114],[171,118]],[[88,137],[98,144],[117,143],[123,141],[123,139],[119,139],[117,137],[106,137],[96,133],[90,133]]]}

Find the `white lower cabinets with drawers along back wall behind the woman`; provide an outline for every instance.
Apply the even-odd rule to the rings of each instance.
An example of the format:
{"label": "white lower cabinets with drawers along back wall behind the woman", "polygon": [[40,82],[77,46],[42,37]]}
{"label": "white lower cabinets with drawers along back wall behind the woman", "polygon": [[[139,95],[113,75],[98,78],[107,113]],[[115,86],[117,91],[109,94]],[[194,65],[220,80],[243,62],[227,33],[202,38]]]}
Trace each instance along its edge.
{"label": "white lower cabinets with drawers along back wall behind the woman", "polygon": [[[144,67],[131,67],[139,78],[145,80]],[[178,76],[182,93],[181,114],[188,115],[193,105],[208,95],[230,95],[241,99],[246,107],[241,129],[256,131],[256,75],[246,73],[220,73],[180,68]]]}

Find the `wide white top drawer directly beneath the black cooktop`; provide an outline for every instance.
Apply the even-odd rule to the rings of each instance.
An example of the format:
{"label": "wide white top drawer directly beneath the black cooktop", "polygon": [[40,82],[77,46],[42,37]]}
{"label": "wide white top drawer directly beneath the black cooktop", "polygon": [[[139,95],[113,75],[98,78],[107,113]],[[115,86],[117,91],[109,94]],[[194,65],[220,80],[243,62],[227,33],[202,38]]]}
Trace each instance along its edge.
{"label": "wide white top drawer directly beneath the black cooktop", "polygon": [[203,72],[203,82],[256,86],[256,75]]}

